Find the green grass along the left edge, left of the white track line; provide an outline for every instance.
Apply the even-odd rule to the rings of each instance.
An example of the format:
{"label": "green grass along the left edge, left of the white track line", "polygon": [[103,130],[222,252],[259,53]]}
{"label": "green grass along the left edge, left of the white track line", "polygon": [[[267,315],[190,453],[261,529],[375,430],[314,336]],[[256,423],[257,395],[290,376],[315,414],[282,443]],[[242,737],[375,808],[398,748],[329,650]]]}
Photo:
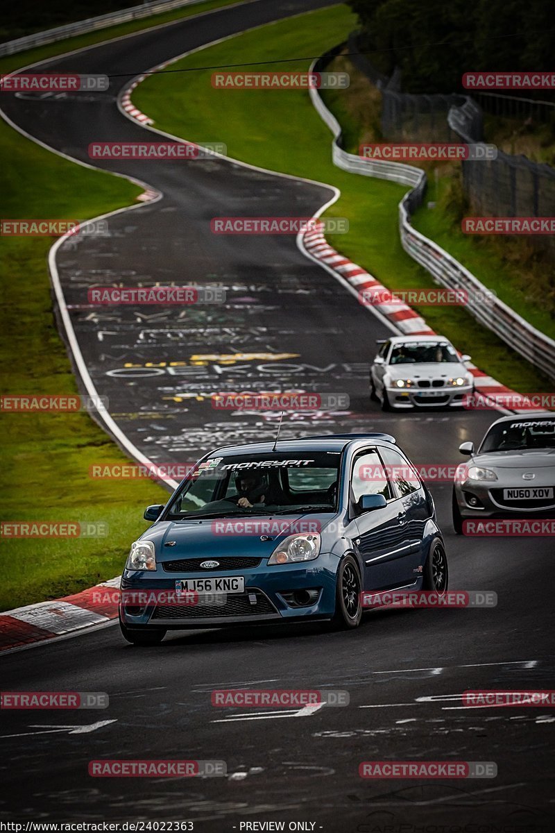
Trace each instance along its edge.
{"label": "green grass along the left edge, left of the white track line", "polygon": [[[3,217],[95,217],[133,202],[125,179],[68,162],[0,122]],[[2,393],[77,392],[57,332],[47,271],[52,237],[0,238]],[[102,538],[2,539],[0,610],[57,598],[116,576],[146,529],[142,508],[166,492],[151,481],[92,480],[89,466],[126,461],[86,413],[0,413],[2,520],[104,521]]]}

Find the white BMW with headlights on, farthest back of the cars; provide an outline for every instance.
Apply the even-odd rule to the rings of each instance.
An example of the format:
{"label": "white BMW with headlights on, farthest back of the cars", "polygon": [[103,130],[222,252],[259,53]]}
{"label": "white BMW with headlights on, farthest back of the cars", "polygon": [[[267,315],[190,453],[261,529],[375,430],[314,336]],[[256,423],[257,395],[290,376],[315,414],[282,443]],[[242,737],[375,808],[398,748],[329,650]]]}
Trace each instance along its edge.
{"label": "white BMW with headlights on, farthest back of the cars", "polygon": [[370,368],[370,397],[382,411],[394,408],[461,407],[473,392],[473,376],[442,336],[396,336],[379,341]]}

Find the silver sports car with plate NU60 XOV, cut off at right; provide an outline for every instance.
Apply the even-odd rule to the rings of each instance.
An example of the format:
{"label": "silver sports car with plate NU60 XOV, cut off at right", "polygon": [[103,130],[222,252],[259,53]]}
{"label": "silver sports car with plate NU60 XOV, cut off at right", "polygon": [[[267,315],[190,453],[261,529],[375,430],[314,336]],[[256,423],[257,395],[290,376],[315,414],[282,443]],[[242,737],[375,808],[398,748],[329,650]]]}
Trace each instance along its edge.
{"label": "silver sports car with plate NU60 XOV, cut off at right", "polygon": [[553,516],[555,510],[555,414],[503,416],[489,426],[478,451],[459,466],[453,486],[453,526],[477,517]]}

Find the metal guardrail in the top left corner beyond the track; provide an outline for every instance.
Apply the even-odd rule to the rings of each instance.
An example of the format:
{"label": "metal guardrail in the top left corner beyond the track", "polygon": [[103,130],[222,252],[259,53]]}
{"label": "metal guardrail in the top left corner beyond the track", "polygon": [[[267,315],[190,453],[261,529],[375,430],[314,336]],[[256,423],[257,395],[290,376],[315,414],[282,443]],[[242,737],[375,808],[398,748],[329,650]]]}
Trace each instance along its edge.
{"label": "metal guardrail in the top left corner beyond the track", "polygon": [[67,23],[65,26],[57,26],[54,29],[47,29],[45,32],[34,32],[32,35],[17,37],[14,41],[0,43],[0,56],[14,55],[16,52],[23,52],[32,47],[41,47],[45,43],[62,41],[73,35],[83,35],[87,32],[94,32],[96,29],[104,29],[114,26],[116,23],[126,23],[141,17],[150,17],[159,12],[169,12],[173,8],[181,6],[194,6],[203,0],[153,0],[141,6],[122,8],[117,12],[101,14],[98,17],[87,17],[87,20],[79,20],[76,23]]}

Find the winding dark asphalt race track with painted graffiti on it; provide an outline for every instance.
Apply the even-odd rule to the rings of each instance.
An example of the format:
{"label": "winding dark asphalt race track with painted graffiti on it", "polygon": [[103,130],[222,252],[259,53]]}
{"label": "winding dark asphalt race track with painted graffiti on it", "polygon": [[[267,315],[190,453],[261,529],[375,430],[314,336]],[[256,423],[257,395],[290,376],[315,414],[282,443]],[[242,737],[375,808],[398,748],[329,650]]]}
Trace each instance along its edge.
{"label": "winding dark asphalt race track with painted graffiti on it", "polygon": [[[122,88],[138,72],[203,43],[324,5],[259,0],[42,68],[104,73]],[[117,110],[115,92],[48,101],[4,95],[2,108],[49,147],[90,162],[92,141],[146,136]],[[206,140],[225,142],[225,135]],[[349,412],[298,415],[284,423],[282,436],[386,428],[422,463],[456,462],[459,442],[480,439],[491,414],[385,416],[369,405],[374,340],[388,331],[305,258],[294,238],[210,232],[215,216],[310,216],[330,199],[329,188],[225,159],[102,167],[140,178],[163,197],[110,217],[109,237],[65,243],[57,264],[97,391],[109,397],[111,416],[143,454],[184,462],[224,442],[273,437],[275,415],[219,414],[205,398],[245,387],[349,394]],[[224,285],[228,302],[186,312],[87,307],[88,287],[114,281]],[[288,829],[299,821],[309,823],[307,830],[361,833],[402,825],[412,833],[424,822],[446,830],[482,825],[486,833],[548,825],[555,807],[548,754],[553,709],[469,713],[457,696],[466,689],[553,687],[549,541],[457,538],[450,486],[433,491],[447,531],[451,586],[496,591],[496,608],[378,611],[348,634],[322,634],[315,626],[195,631],[141,651],[108,627],[6,656],[4,688],[107,691],[111,704],[69,719],[68,713],[4,712],[0,821],[190,819],[198,831],[240,830],[254,821],[283,821]],[[244,716],[211,707],[212,688],[235,686],[342,688],[350,705],[261,719],[252,719],[255,710]],[[104,720],[114,722],[87,733],[62,729]],[[120,781],[87,775],[92,758],[186,757],[225,760],[228,776]],[[495,761],[498,777],[362,781],[359,761],[372,759]]]}

